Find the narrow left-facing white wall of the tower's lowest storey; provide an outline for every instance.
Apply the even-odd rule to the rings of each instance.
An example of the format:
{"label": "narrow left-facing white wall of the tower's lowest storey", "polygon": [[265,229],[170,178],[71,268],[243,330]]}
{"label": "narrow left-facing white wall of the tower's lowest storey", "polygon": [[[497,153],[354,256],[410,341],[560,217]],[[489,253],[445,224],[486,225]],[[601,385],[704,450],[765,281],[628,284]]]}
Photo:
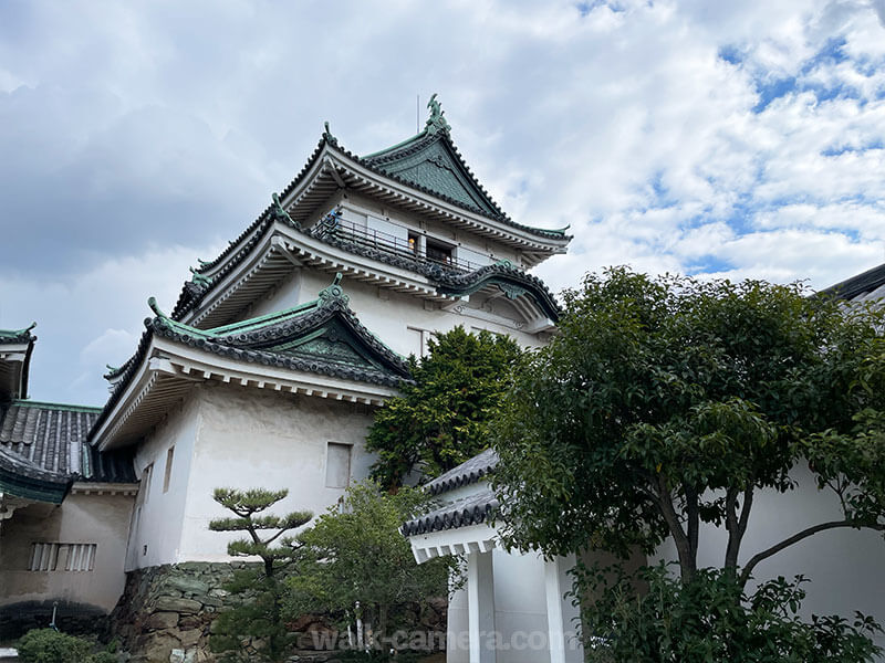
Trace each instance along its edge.
{"label": "narrow left-facing white wall of the tower's lowest storey", "polygon": [[[180,558],[180,543],[187,486],[190,481],[194,442],[199,427],[200,387],[138,445],[135,454],[136,476],[142,481],[132,516],[126,570],[174,564]],[[163,492],[166,457],[175,446],[169,488]],[[153,463],[149,482],[145,467]]]}

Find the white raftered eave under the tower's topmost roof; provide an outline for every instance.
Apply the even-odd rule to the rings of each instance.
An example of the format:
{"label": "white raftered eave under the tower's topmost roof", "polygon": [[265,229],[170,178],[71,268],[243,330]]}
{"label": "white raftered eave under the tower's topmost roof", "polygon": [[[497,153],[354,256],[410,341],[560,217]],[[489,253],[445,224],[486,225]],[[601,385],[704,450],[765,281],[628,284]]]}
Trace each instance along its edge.
{"label": "white raftered eave under the tower's topmost roof", "polygon": [[[527,252],[525,257],[534,264],[556,253],[564,253],[570,238],[543,240],[528,231],[473,213],[439,199],[433,193],[413,188],[407,183],[379,175],[341,150],[325,145],[319,158],[295,187],[282,199],[282,204],[295,221],[305,223],[316,207],[335,191],[345,188],[358,191],[376,200],[396,206],[444,224],[468,230],[477,235],[496,240]],[[543,256],[539,259],[539,256]]]}

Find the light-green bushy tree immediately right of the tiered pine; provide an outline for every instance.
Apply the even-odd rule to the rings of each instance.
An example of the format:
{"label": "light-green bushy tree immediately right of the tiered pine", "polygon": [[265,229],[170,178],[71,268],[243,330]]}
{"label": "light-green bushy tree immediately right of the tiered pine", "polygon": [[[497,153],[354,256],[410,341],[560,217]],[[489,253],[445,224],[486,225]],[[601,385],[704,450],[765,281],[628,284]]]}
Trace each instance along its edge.
{"label": "light-green bushy tree immediately right of the tiered pine", "polygon": [[427,496],[413,488],[388,494],[372,481],[347,488],[341,506],[331,507],[299,537],[304,561],[287,581],[289,614],[329,612],[351,621],[358,602],[360,617],[373,624],[381,642],[393,608],[446,596],[457,560],[445,557],[419,566],[399,533],[405,520],[428,508]]}

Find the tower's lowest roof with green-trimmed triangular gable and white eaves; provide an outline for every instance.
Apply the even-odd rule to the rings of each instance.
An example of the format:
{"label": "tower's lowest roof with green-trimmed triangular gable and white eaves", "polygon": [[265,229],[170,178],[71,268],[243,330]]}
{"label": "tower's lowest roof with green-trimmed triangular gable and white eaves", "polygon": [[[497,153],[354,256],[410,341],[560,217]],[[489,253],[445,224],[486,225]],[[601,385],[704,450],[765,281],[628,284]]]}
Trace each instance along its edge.
{"label": "tower's lowest roof with green-trimmed triangular gable and white eaves", "polygon": [[[174,320],[152,297],[155,317],[145,320],[135,356],[111,373],[116,383],[93,424],[91,442],[105,449],[108,435],[114,444],[133,439],[184,398],[195,380],[222,379],[308,396],[334,391],[339,400],[381,404],[410,379],[408,367],[360,323],[340,283],[339,274],[312,302],[211,329]],[[115,422],[114,431],[128,427],[119,441],[117,432],[105,430],[108,421]]]}

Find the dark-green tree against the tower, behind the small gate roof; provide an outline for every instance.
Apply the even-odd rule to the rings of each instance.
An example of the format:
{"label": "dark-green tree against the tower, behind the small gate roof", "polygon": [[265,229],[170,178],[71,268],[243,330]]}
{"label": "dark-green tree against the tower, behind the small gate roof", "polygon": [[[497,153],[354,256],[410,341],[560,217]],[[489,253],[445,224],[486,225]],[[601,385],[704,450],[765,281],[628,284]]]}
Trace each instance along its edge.
{"label": "dark-green tree against the tower, behind the small gate roof", "polygon": [[488,446],[488,423],[520,356],[510,337],[460,326],[428,346],[426,357],[409,358],[415,383],[376,412],[366,440],[378,454],[372,476],[388,488],[413,471],[438,476]]}

